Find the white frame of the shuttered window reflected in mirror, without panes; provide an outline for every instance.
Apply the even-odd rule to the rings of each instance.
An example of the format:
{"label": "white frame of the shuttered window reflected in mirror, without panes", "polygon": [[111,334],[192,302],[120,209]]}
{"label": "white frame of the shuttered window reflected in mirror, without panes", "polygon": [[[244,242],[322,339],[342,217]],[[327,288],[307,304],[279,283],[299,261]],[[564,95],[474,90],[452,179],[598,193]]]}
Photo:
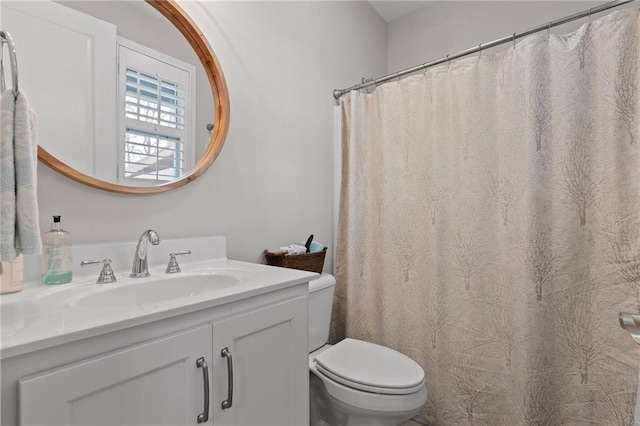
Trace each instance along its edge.
{"label": "white frame of the shuttered window reflected in mirror, without panes", "polygon": [[[137,178],[125,178],[125,133],[127,127],[134,127],[140,131],[147,131],[149,133],[157,133],[159,135],[176,137],[179,136],[181,143],[184,147],[184,173],[188,173],[195,164],[195,134],[196,134],[196,67],[187,62],[176,59],[165,53],[158,52],[157,50],[143,46],[139,43],[127,40],[123,37],[118,37],[117,41],[117,54],[118,54],[118,183],[125,185],[135,186],[154,186],[163,183],[169,183],[170,181],[159,181],[152,179],[137,179]],[[126,74],[127,68],[130,66],[131,57],[143,58],[147,57],[153,61],[158,61],[161,64],[158,65],[162,68],[161,77],[175,82],[184,82],[185,100],[184,105],[184,124],[183,130],[174,130],[164,126],[154,126],[149,123],[144,123],[139,120],[134,120],[125,117],[125,96],[126,96]],[[155,74],[158,70],[152,69],[139,69],[139,71],[147,74]],[[171,69],[173,68],[173,70]],[[186,74],[183,74],[186,73]],[[167,75],[165,75],[167,74]],[[173,75],[172,75],[173,74]],[[178,75],[182,76],[179,78]],[[186,77],[186,78],[185,78]],[[151,126],[151,128],[150,128]]]}

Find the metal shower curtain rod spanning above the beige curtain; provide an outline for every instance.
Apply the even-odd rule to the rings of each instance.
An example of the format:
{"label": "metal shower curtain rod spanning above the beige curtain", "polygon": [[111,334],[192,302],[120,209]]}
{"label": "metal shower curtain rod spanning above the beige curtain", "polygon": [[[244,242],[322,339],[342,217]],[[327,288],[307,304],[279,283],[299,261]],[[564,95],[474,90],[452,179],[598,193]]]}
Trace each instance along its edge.
{"label": "metal shower curtain rod spanning above the beige curtain", "polygon": [[344,95],[345,93],[349,93],[352,90],[358,90],[358,89],[363,89],[365,87],[369,87],[369,86],[373,86],[373,85],[378,85],[384,82],[387,82],[389,80],[393,80],[395,78],[400,78],[400,77],[404,77],[405,75],[409,75],[412,74],[414,72],[418,72],[427,68],[431,68],[433,66],[436,65],[440,65],[443,64],[445,62],[450,62],[453,61],[454,59],[459,59],[462,58],[464,56],[468,56],[468,55],[472,55],[474,53],[478,53],[481,52],[483,49],[490,49],[492,47],[496,47],[499,46],[501,44],[505,44],[505,43],[509,43],[509,42],[513,42],[515,43],[515,41],[519,38],[522,37],[526,37],[528,35],[540,32],[540,31],[544,31],[544,30],[550,30],[553,27],[557,27],[558,25],[562,25],[562,24],[566,24],[568,22],[571,21],[575,21],[577,19],[581,19],[581,18],[586,18],[591,17],[592,14],[595,13],[599,13],[599,12],[604,12],[605,10],[609,10],[609,9],[613,9],[614,7],[618,7],[618,6],[622,6],[624,4],[627,3],[631,3],[634,2],[636,0],[615,0],[609,3],[604,3],[601,4],[600,6],[597,7],[590,7],[588,10],[584,10],[582,12],[578,12],[578,13],[574,13],[573,15],[569,15],[569,16],[565,16],[564,18],[560,18],[560,19],[556,19],[555,21],[549,21],[546,24],[543,25],[539,25],[537,27],[533,27],[530,28],[528,30],[519,32],[519,33],[513,33],[509,36],[506,37],[502,37],[499,38],[497,40],[494,41],[490,41],[488,43],[482,43],[476,47],[470,48],[470,49],[466,49],[463,50],[461,52],[458,52],[456,54],[453,55],[447,55],[444,58],[440,58],[440,59],[436,59],[435,61],[431,61],[431,62],[425,62],[422,65],[416,65],[415,67],[412,68],[407,68],[405,70],[402,71],[398,71],[396,73],[393,74],[389,74],[389,75],[385,75],[384,77],[379,77],[370,81],[366,81],[366,82],[362,82],[360,84],[356,84],[355,86],[351,86],[348,87],[346,89],[335,89],[333,91],[333,97],[336,99],[340,99],[340,97],[342,95]]}

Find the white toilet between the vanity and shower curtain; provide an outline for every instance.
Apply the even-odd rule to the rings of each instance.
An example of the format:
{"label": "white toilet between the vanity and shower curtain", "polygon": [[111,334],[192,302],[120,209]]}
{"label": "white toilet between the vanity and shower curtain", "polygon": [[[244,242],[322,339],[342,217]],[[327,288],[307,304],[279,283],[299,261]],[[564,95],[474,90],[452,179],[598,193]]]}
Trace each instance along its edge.
{"label": "white toilet between the vanity and shower curtain", "polygon": [[309,282],[311,426],[390,426],[427,401],[424,371],[411,358],[357,339],[327,344],[335,278]]}

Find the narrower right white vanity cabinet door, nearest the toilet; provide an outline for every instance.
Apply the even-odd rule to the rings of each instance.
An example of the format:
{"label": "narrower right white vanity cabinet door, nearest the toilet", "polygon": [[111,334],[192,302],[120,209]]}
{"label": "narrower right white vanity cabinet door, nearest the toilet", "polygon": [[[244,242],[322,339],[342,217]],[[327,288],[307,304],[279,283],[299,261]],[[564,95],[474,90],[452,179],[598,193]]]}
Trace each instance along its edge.
{"label": "narrower right white vanity cabinet door, nearest the toilet", "polygon": [[[309,423],[307,298],[213,324],[213,421],[216,426]],[[229,398],[229,359],[233,399]]]}

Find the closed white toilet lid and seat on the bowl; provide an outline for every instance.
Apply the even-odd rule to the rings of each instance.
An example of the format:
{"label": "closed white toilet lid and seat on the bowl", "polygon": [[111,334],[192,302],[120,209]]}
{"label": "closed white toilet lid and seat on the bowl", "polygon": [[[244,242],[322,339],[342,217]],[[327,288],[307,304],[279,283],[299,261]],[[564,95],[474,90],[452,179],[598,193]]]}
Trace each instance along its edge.
{"label": "closed white toilet lid and seat on the bowl", "polygon": [[424,386],[424,371],[391,348],[344,339],[315,357],[319,372],[345,386],[382,394],[408,394]]}

